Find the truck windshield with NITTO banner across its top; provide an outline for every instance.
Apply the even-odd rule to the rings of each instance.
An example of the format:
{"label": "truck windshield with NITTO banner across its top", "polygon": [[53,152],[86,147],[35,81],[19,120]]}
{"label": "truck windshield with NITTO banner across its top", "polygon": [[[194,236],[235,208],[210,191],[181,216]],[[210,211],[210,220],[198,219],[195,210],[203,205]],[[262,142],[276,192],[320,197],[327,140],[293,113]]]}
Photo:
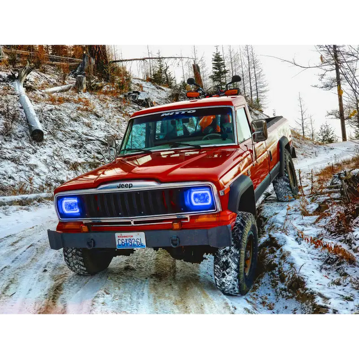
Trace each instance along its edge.
{"label": "truck windshield with NITTO banner across its top", "polygon": [[201,148],[234,143],[233,117],[229,107],[198,108],[130,119],[121,151]]}

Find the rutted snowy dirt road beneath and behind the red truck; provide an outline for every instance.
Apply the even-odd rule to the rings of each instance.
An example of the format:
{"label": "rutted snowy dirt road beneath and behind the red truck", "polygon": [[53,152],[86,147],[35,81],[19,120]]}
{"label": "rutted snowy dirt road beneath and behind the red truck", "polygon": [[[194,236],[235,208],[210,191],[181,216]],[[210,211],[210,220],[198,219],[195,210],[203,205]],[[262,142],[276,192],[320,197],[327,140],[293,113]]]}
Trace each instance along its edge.
{"label": "rutted snowy dirt road beneath and behind the red truck", "polygon": [[[297,168],[327,165],[334,154],[343,158],[355,151],[354,143],[331,147],[318,146],[318,155],[310,149],[307,158],[300,154]],[[270,206],[286,208],[269,202],[264,211]],[[294,298],[278,296],[266,275],[244,297],[223,295],[214,285],[212,256],[198,265],[175,261],[164,250],[137,250],[129,257],[115,257],[98,275],[76,275],[65,265],[62,251],[49,248],[47,229],[54,230],[56,224],[51,203],[0,208],[0,314],[233,315],[303,310]]]}

